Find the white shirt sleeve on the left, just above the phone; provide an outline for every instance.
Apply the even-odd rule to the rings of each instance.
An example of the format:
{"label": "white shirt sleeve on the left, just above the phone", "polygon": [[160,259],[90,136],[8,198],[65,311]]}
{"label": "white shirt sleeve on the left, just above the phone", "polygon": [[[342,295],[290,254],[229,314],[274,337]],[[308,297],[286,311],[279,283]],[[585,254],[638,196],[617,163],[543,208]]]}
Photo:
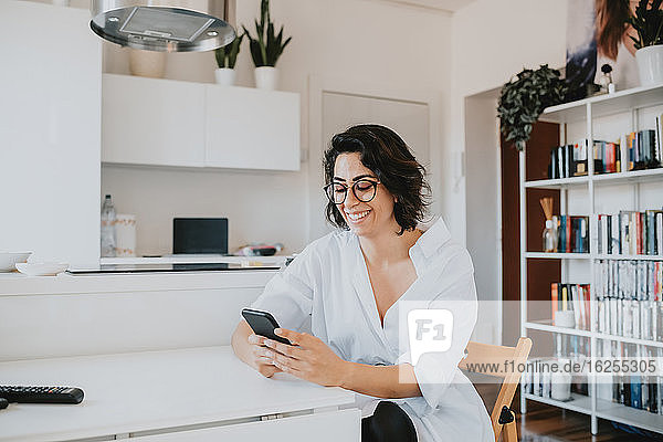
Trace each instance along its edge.
{"label": "white shirt sleeve on the left, just above the phone", "polygon": [[308,245],[270,280],[251,308],[270,312],[281,327],[298,330],[312,313],[315,267],[315,253]]}

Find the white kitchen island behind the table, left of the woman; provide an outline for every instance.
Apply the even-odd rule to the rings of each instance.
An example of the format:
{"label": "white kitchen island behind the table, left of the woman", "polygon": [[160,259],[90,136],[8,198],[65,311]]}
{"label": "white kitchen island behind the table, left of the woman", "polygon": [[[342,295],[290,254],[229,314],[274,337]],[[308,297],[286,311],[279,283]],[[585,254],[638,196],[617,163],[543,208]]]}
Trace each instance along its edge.
{"label": "white kitchen island behind the table, left of the woman", "polygon": [[0,361],[229,345],[276,273],[0,274]]}

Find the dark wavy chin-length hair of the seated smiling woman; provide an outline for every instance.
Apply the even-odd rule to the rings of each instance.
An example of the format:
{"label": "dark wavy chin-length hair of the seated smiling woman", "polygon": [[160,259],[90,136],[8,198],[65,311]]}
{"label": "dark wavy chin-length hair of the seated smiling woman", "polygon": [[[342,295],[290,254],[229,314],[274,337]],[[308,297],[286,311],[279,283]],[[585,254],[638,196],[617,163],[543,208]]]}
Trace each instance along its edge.
{"label": "dark wavy chin-length hair of the seated smiling woman", "polygon": [[[406,141],[390,128],[380,125],[357,125],[336,134],[323,159],[326,183],[334,179],[336,158],[354,152],[359,154],[361,164],[397,198],[393,215],[401,228],[398,234],[414,230],[423,221],[430,206],[431,187],[425,180],[425,168],[417,161]],[[332,225],[349,229],[332,201],[327,202],[326,217]]]}

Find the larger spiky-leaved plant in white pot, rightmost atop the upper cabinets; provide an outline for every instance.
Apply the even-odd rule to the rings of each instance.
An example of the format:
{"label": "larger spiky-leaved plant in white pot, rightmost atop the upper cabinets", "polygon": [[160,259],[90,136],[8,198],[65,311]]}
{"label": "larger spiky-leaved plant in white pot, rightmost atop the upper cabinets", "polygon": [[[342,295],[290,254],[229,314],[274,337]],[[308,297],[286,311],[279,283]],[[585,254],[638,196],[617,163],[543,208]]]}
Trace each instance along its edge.
{"label": "larger spiky-leaved plant in white pot, rightmost atop the upper cabinets", "polygon": [[274,31],[274,23],[270,18],[270,0],[260,3],[260,22],[255,20],[255,38],[244,28],[249,38],[251,57],[255,65],[255,86],[265,90],[275,90],[278,83],[278,71],[276,61],[283,50],[291,42],[292,36],[283,41],[283,27],[278,34]]}

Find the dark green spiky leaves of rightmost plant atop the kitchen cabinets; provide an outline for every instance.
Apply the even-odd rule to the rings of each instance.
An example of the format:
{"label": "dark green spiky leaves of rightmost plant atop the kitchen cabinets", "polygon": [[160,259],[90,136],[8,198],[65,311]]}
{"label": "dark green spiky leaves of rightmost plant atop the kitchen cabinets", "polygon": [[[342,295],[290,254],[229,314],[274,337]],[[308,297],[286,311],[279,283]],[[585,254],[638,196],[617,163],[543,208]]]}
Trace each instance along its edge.
{"label": "dark green spiky leaves of rightmost plant atop the kitchen cabinets", "polygon": [[292,36],[288,36],[283,41],[283,27],[278,34],[275,34],[274,23],[270,18],[270,0],[262,0],[260,3],[260,22],[255,20],[256,36],[253,38],[246,27],[242,28],[249,38],[249,48],[255,67],[275,66],[283,50],[292,40]]}

